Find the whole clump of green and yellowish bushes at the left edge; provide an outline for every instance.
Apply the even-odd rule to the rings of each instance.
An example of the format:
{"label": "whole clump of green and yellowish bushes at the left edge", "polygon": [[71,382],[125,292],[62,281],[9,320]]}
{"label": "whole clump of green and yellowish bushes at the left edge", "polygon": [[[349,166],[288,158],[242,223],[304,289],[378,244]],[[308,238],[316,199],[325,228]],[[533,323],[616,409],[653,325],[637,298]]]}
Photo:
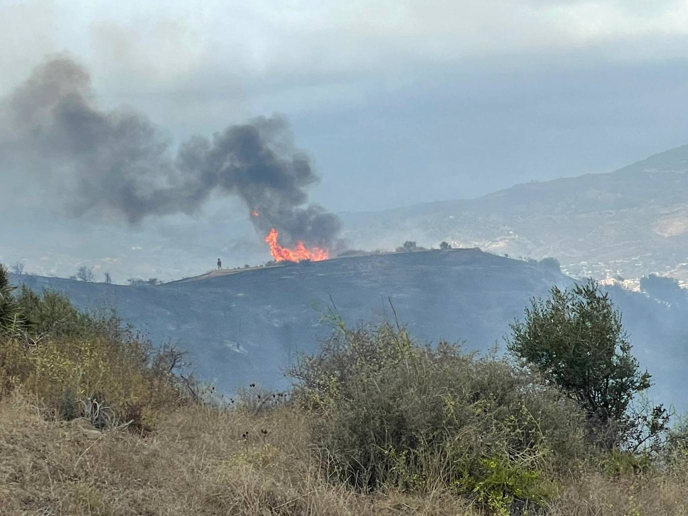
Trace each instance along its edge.
{"label": "whole clump of green and yellowish bushes at the left edge", "polygon": [[0,395],[21,386],[46,416],[90,414],[98,426],[143,432],[164,411],[197,399],[193,379],[180,374],[182,354],[156,350],[116,314],[85,314],[58,292],[22,286],[14,297],[10,289],[0,308],[24,322],[23,332],[0,335]]}

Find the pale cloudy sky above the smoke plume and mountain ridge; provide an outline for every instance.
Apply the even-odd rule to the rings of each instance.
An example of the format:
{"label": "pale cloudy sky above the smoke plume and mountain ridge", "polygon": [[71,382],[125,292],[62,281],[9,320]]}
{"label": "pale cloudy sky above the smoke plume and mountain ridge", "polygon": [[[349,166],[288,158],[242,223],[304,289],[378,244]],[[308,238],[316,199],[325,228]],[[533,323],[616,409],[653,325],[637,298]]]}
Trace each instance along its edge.
{"label": "pale cloudy sky above the smoke plume and mountain ridge", "polygon": [[179,141],[290,120],[334,211],[611,171],[688,142],[685,0],[0,0],[0,94],[46,55]]}

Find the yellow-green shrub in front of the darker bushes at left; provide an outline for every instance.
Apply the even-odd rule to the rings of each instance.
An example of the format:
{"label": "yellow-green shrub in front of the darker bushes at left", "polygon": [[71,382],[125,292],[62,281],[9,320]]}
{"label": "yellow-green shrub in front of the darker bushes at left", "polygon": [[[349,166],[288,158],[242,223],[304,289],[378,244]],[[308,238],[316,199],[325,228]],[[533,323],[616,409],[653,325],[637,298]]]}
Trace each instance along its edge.
{"label": "yellow-green shrub in front of the darker bushes at left", "polygon": [[186,398],[176,377],[149,367],[152,355],[149,344],[136,339],[48,338],[28,349],[8,339],[0,350],[0,378],[6,386],[21,384],[50,418],[83,416],[86,405],[97,402],[113,422],[149,431],[163,411]]}

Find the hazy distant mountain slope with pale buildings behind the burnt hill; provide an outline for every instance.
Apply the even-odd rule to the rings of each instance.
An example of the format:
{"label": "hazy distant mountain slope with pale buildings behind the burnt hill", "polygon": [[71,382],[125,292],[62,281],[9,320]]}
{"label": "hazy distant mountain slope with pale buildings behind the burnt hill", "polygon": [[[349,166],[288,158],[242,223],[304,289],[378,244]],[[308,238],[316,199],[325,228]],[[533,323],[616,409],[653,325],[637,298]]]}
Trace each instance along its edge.
{"label": "hazy distant mountain slope with pale buildings behind the burnt hill", "polygon": [[520,184],[474,200],[345,213],[353,247],[406,240],[556,257],[576,277],[688,281],[688,145],[605,174]]}

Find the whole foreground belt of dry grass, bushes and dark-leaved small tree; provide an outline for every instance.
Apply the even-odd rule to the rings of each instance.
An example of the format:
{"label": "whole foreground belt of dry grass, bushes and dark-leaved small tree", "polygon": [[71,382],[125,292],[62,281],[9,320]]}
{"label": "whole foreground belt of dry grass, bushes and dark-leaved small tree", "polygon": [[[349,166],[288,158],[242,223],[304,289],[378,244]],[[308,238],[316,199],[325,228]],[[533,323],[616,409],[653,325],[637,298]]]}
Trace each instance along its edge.
{"label": "whole foreground belt of dry grass, bushes and dark-leaved small tree", "polygon": [[334,320],[290,393],[213,396],[114,314],[0,268],[0,514],[679,515],[688,433],[590,283],[510,356]]}

